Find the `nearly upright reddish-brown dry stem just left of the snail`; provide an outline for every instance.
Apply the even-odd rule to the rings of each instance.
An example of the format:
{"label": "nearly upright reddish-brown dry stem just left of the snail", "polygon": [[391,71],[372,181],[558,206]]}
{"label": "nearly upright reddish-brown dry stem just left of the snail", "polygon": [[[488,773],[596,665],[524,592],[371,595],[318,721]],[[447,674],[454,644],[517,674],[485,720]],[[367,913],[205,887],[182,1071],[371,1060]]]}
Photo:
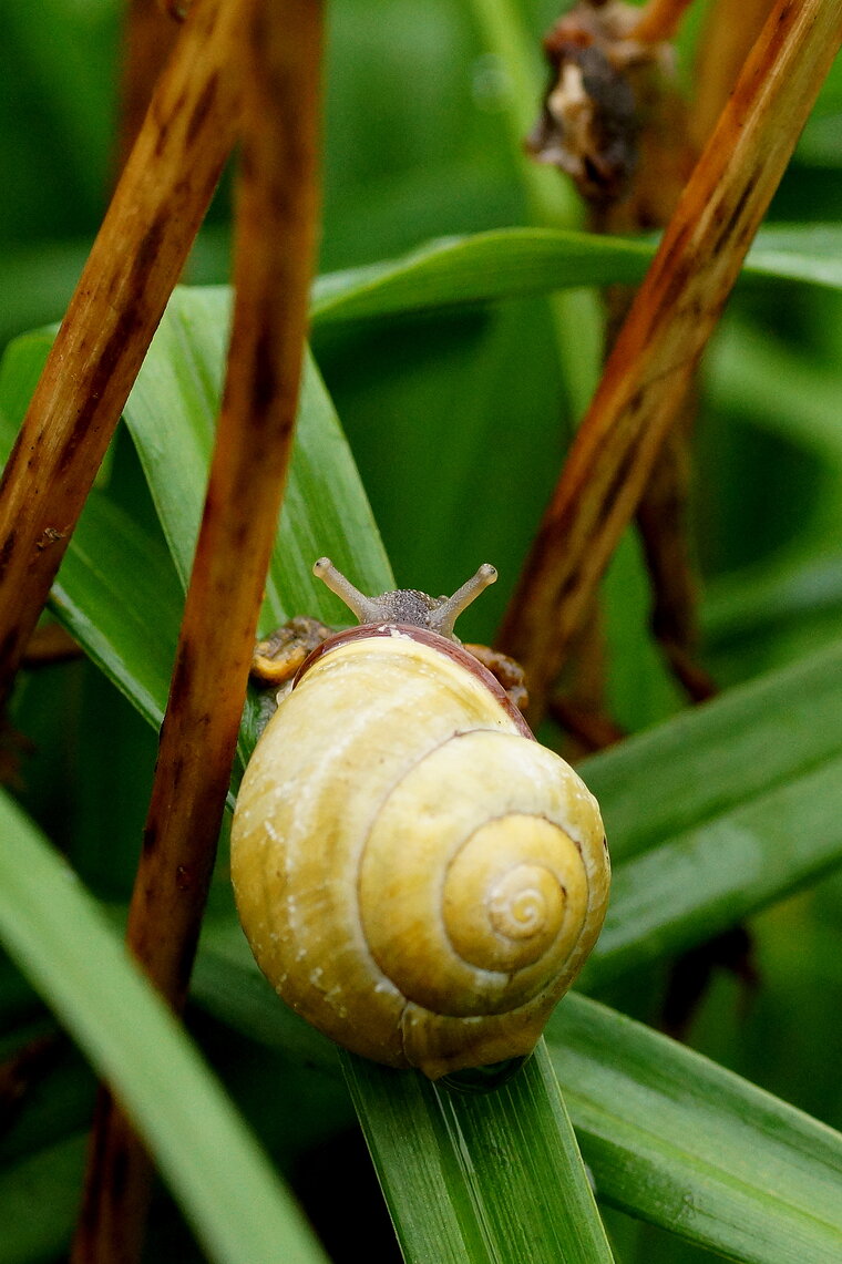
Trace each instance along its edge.
{"label": "nearly upright reddish-brown dry stem just left of the snail", "polygon": [[[228,378],[196,547],[129,944],[183,1005],[214,865],[292,446],[316,222],[317,0],[238,6],[244,134]],[[102,1096],[73,1259],[137,1260],[148,1163]]]}

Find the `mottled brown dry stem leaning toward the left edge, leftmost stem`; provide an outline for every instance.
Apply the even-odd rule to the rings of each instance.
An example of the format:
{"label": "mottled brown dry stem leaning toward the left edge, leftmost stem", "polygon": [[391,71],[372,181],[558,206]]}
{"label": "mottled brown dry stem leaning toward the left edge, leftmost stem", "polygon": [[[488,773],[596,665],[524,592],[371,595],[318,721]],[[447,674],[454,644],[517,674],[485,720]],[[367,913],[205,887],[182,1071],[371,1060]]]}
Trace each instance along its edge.
{"label": "mottled brown dry stem leaning toward the left edge, leftmost stem", "polygon": [[0,484],[0,700],[233,144],[236,6],[196,0]]}

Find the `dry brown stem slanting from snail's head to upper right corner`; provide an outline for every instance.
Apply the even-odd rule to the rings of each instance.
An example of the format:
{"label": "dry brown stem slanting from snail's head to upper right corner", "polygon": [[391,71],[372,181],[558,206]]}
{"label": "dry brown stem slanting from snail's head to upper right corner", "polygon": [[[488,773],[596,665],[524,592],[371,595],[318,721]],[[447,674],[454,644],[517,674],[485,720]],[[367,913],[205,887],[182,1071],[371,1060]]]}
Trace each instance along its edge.
{"label": "dry brown stem slanting from snail's head to upper right corner", "polygon": [[501,632],[534,723],[841,42],[842,0],[779,0],[635,298]]}

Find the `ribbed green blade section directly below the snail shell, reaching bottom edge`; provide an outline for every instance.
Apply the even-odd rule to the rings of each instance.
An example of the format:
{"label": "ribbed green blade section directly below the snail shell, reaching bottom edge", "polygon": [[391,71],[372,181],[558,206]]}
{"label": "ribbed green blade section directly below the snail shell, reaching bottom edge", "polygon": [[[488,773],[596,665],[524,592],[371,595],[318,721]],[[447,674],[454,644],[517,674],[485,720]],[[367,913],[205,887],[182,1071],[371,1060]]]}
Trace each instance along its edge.
{"label": "ribbed green blade section directly below the snail shell, reaching bottom edge", "polygon": [[612,1259],[542,1043],[492,1093],[343,1066],[407,1261]]}

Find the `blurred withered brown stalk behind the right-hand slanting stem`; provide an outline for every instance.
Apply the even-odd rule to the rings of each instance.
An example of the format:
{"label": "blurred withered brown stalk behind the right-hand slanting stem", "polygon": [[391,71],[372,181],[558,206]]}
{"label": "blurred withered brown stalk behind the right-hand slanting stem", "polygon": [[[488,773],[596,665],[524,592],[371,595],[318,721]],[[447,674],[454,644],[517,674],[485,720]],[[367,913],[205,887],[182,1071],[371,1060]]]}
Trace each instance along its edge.
{"label": "blurred withered brown stalk behind the right-hand slanting stem", "polygon": [[[685,8],[654,0],[641,14],[619,0],[599,9],[583,0],[545,39],[554,82],[532,140],[544,162],[573,173],[590,204],[590,226],[597,233],[662,228],[693,171],[698,154],[666,40]],[[633,289],[626,286],[607,292],[609,346],[632,298]],[[680,434],[670,432],[644,493],[638,526],[654,588],[654,629],[656,635],[664,629],[668,661],[698,698],[703,672],[693,665],[695,584],[685,512],[689,459],[681,451],[688,436],[686,426]],[[598,627],[592,617],[589,622]],[[565,704],[554,708],[556,718],[561,709],[569,717],[589,715],[595,705],[593,690],[582,688],[582,655],[593,655],[593,637],[580,637],[579,646],[571,648],[561,683]],[[711,691],[707,681],[705,696]]]}

